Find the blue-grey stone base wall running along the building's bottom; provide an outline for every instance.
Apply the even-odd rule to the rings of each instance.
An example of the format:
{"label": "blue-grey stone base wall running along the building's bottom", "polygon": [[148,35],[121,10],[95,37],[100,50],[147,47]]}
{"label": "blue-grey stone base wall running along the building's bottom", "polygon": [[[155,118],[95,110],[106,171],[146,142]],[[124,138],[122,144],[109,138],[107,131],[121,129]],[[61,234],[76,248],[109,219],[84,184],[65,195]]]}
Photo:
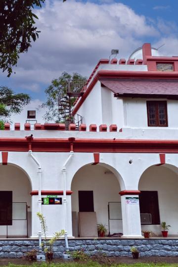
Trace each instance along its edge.
{"label": "blue-grey stone base wall running along the building's bottom", "polygon": [[[0,240],[0,258],[21,258],[32,249],[39,249],[38,240]],[[104,253],[108,257],[132,257],[131,247],[137,247],[140,257],[178,256],[178,239],[70,239],[69,249],[83,249],[88,255]],[[54,258],[62,257],[65,241],[54,244]]]}

